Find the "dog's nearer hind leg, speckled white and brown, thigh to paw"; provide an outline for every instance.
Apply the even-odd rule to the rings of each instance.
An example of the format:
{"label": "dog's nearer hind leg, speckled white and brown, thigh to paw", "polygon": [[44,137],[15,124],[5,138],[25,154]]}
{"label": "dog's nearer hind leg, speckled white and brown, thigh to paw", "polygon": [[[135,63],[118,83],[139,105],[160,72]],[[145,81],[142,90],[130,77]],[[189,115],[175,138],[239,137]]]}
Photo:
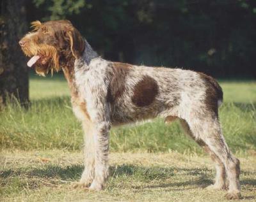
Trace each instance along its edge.
{"label": "dog's nearer hind leg, speckled white and brown, thigh to paw", "polygon": [[[211,113],[209,112],[209,114]],[[193,114],[191,113],[191,115]],[[240,163],[228,149],[227,143],[221,133],[218,116],[204,114],[202,115],[202,119],[200,119],[196,116],[198,112],[194,115],[193,119],[187,120],[189,129],[196,140],[204,141],[209,150],[224,164],[229,182],[226,198],[239,199],[241,197],[239,184]]]}

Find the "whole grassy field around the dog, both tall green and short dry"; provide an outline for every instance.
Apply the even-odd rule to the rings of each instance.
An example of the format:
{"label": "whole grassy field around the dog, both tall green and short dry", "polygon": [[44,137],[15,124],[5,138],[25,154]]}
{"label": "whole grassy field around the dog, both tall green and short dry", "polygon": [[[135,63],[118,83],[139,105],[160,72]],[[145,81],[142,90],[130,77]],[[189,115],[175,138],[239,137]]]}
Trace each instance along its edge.
{"label": "whole grassy field around the dog, both tall green and short dry", "polygon": [[[202,189],[210,159],[179,127],[161,119],[111,130],[111,177],[102,192],[70,189],[83,170],[83,131],[60,75],[30,78],[31,108],[0,112],[0,201],[223,201]],[[256,82],[220,81],[220,120],[241,159],[243,201],[256,199]]]}

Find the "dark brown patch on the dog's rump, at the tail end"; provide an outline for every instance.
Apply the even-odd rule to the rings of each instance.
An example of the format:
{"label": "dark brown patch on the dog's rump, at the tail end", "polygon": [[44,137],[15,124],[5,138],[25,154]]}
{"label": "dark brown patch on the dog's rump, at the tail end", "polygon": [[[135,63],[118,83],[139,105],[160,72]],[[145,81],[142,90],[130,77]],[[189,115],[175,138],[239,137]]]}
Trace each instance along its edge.
{"label": "dark brown patch on the dog's rump, at the tail end", "polygon": [[218,115],[218,101],[223,101],[223,92],[216,80],[204,73],[199,73],[204,80],[206,86],[205,105],[208,110],[215,112]]}

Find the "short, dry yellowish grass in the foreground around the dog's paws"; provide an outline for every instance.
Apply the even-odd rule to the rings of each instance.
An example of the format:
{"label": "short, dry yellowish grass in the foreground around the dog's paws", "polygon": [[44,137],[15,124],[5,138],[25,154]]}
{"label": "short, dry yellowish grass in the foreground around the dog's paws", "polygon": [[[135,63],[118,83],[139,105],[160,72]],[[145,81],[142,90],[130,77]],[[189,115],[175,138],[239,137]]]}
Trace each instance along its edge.
{"label": "short, dry yellowish grass in the foreground around the dog's paws", "polygon": [[[204,189],[214,178],[209,158],[165,154],[113,153],[102,192],[72,189],[82,154],[67,150],[5,150],[0,201],[225,201],[225,191]],[[256,199],[256,158],[240,157],[243,201]]]}

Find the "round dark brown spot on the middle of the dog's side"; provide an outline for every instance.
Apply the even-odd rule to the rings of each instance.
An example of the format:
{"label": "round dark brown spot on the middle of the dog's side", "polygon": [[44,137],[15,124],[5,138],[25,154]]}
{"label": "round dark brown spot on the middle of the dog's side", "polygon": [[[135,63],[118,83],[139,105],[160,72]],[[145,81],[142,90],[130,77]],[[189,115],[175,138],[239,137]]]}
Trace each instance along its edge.
{"label": "round dark brown spot on the middle of the dog's side", "polygon": [[148,106],[153,103],[158,94],[156,80],[150,76],[143,76],[142,80],[134,86],[132,103],[137,106]]}

